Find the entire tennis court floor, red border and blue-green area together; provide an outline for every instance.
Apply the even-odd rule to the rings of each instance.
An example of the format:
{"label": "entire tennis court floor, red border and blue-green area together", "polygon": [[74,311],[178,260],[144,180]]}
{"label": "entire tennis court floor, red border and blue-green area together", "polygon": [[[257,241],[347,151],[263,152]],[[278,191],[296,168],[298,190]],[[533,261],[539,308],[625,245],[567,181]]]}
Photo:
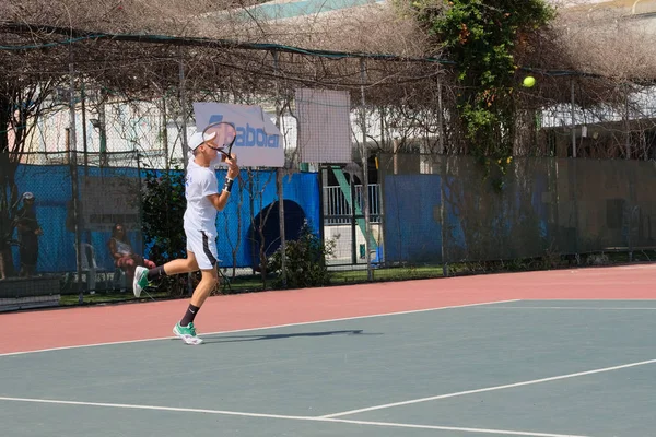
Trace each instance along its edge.
{"label": "entire tennis court floor, red border and blue-green area together", "polygon": [[1,435],[653,436],[656,265],[0,316]]}

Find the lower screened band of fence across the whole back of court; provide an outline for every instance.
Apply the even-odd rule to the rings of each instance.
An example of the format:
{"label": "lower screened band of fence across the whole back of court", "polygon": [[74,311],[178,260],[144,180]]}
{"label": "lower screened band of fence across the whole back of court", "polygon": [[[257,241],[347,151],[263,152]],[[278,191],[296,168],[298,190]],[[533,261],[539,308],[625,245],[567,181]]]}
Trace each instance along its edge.
{"label": "lower screened band of fence across the whole back of court", "polygon": [[[3,252],[4,308],[130,298],[129,275],[109,247],[117,224],[136,253],[149,258],[157,249],[143,245],[141,213],[143,180],[155,170],[141,168],[137,152],[102,158],[92,153],[86,165],[79,158],[31,153],[16,169],[21,196],[14,214],[31,193],[43,234],[35,272],[16,277],[24,253],[14,215]],[[380,184],[368,187],[370,203],[379,202],[368,223],[376,269],[656,248],[653,162],[524,157],[512,158],[503,173],[468,156],[383,154],[378,161]],[[281,244],[276,178],[274,170],[244,170],[219,214],[220,267],[227,281],[258,273],[262,257]],[[362,186],[321,188],[319,179],[316,173],[282,178],[286,238],[295,239],[303,223],[326,239],[335,238],[330,229],[343,226],[344,247],[329,263],[362,265]]]}

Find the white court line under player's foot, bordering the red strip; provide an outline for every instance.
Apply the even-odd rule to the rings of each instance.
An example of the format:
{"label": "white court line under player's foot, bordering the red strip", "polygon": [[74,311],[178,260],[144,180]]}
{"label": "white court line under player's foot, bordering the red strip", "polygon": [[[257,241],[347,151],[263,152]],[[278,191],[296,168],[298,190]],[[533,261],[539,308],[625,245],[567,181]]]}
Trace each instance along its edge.
{"label": "white court line under player's foot, bordering the red strip", "polygon": [[[480,306],[480,305],[509,304],[512,302],[519,302],[519,300],[520,299],[481,302],[481,303],[477,303],[477,304],[453,305],[453,306],[449,306],[449,307],[411,309],[411,310],[408,310],[408,311],[384,312],[384,314],[368,315],[368,316],[343,317],[343,318],[339,318],[339,319],[313,320],[313,321],[302,321],[302,322],[297,322],[297,323],[274,324],[274,326],[269,326],[269,327],[235,329],[235,330],[232,330],[232,331],[203,332],[202,336],[206,336],[206,335],[219,335],[219,334],[230,334],[230,333],[235,333],[235,332],[259,331],[259,330],[265,330],[265,329],[278,329],[278,328],[288,328],[288,327],[298,327],[298,326],[304,326],[304,324],[328,323],[328,322],[332,322],[332,321],[371,319],[371,318],[374,318],[374,317],[400,316],[400,315],[414,314],[414,312],[437,311],[437,310],[441,310],[441,309],[468,308],[468,307],[476,307],[476,306]],[[39,350],[35,350],[35,351],[8,352],[8,353],[4,353],[4,354],[0,354],[0,357],[3,357],[3,356],[13,356],[13,355],[24,355],[24,354],[34,354],[34,353],[37,353],[37,352],[66,351],[66,350],[69,350],[69,349],[109,346],[109,345],[114,345],[114,344],[142,343],[142,342],[160,341],[160,340],[171,340],[171,339],[177,339],[177,338],[176,336],[160,336],[160,338],[154,338],[154,339],[127,340],[127,341],[118,341],[118,342],[93,343],[93,344],[80,344],[80,345],[74,345],[74,346],[39,349]]]}

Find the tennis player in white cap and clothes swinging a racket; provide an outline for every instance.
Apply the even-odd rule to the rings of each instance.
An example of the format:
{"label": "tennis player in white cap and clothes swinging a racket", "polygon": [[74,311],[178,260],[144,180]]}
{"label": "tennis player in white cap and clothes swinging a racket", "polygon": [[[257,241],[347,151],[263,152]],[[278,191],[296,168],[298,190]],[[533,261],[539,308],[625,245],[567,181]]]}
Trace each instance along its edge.
{"label": "tennis player in white cap and clothes swinging a racket", "polygon": [[[200,307],[219,283],[216,272],[216,211],[227,204],[233,180],[239,175],[239,167],[234,154],[232,157],[219,155],[219,146],[214,142],[216,134],[203,138],[202,132],[196,132],[189,138],[189,149],[194,158],[187,165],[185,197],[187,210],[184,225],[187,237],[187,258],[176,259],[154,269],[138,267],[134,271],[132,287],[134,296],[152,281],[163,276],[189,273],[200,270],[201,279],[189,302],[189,307],[181,320],[173,328],[173,333],[187,344],[201,344],[194,319]],[[227,176],[223,189],[219,191],[219,181],[214,172],[218,160],[227,164]]]}

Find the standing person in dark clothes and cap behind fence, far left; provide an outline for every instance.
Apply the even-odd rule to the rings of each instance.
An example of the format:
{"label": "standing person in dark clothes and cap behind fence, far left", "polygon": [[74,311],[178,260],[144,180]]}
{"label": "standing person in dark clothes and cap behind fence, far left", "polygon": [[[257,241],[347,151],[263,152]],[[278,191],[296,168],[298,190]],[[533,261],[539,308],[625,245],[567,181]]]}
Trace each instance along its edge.
{"label": "standing person in dark clothes and cap behind fence, far left", "polygon": [[23,193],[23,206],[16,212],[15,225],[19,233],[21,272],[20,276],[30,277],[36,272],[38,261],[38,237],[44,232],[36,220],[35,198],[31,192]]}

